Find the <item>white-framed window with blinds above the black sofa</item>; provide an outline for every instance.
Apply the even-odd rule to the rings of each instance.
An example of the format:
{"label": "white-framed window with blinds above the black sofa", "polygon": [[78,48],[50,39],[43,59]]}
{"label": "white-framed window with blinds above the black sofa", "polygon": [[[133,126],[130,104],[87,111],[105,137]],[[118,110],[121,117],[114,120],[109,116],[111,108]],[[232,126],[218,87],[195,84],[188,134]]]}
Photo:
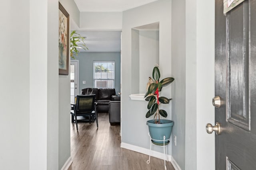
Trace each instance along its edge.
{"label": "white-framed window with blinds above the black sofa", "polygon": [[115,62],[93,62],[93,86],[94,88],[115,88]]}

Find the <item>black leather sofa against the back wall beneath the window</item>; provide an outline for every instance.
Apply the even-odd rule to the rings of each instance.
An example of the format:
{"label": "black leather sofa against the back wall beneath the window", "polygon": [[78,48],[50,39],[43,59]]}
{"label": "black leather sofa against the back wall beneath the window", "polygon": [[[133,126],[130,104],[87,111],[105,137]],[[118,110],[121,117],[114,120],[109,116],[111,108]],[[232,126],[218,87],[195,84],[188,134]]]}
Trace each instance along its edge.
{"label": "black leather sofa against the back wall beneath the window", "polygon": [[95,100],[98,102],[98,113],[108,113],[109,102],[112,101],[113,96],[117,96],[114,88],[84,88],[81,94],[96,94]]}

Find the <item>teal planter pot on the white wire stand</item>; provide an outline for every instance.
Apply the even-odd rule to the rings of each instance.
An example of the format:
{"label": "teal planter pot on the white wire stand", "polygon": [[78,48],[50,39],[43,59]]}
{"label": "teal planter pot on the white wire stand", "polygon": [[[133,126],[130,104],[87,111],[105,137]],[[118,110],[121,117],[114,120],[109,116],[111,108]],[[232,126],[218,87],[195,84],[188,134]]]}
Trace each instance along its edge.
{"label": "teal planter pot on the white wire stand", "polygon": [[[154,123],[154,120],[148,120],[147,125],[148,125],[148,130],[153,142],[168,143],[169,141],[168,139],[170,139],[170,136],[172,133],[173,121],[167,120],[167,119],[160,119],[160,124],[156,124]],[[165,136],[165,139],[167,139],[165,141],[164,141],[164,136]]]}

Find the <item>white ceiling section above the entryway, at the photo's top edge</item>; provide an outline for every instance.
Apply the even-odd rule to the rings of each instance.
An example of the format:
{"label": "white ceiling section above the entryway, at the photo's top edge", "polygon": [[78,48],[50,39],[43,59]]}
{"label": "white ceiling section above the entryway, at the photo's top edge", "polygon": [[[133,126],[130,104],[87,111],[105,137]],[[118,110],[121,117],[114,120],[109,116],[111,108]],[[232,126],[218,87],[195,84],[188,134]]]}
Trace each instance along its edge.
{"label": "white ceiling section above the entryway, at the photo's top edge", "polygon": [[74,0],[80,12],[122,12],[156,0]]}

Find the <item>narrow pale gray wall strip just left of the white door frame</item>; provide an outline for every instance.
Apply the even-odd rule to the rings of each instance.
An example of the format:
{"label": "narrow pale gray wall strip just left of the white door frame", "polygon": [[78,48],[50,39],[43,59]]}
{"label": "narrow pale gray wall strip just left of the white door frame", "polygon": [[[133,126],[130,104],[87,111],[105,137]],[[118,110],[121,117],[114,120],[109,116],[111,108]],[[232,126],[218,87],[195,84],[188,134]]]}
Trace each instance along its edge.
{"label": "narrow pale gray wall strip just left of the white door frame", "polygon": [[[186,1],[186,169],[197,169],[196,2]],[[188,29],[188,27],[190,29]],[[191,100],[193,98],[193,100]],[[199,153],[198,153],[199,154]]]}

